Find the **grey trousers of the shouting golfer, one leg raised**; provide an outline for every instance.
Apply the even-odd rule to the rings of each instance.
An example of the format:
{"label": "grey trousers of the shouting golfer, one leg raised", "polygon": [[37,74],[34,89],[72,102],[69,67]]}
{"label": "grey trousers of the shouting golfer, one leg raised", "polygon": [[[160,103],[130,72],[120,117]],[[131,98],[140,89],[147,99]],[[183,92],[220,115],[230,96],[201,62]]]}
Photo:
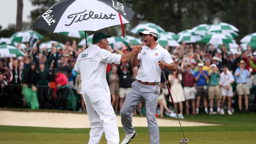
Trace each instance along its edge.
{"label": "grey trousers of the shouting golfer, one leg raised", "polygon": [[158,85],[143,85],[137,81],[132,83],[132,90],[126,95],[121,109],[121,122],[124,133],[130,134],[134,131],[132,110],[143,98],[145,98],[150,144],[159,144],[159,129],[156,120]]}

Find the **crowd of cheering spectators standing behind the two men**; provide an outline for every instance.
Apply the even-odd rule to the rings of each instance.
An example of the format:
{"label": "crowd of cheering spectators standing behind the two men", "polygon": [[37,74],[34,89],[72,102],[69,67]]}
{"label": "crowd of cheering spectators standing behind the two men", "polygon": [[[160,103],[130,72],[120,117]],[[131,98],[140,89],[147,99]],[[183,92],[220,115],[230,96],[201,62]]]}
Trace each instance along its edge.
{"label": "crowd of cheering spectators standing behind the two men", "polygon": [[[39,42],[38,42],[39,43]],[[124,54],[131,45],[111,48],[112,53]],[[19,45],[18,45],[19,48]],[[177,70],[164,69],[178,113],[185,114],[232,114],[255,111],[256,102],[256,59],[249,46],[234,54],[225,46],[182,43],[171,48],[166,46],[176,63]],[[67,97],[77,98],[73,110],[86,111],[81,92],[81,76],[74,71],[76,57],[84,47],[76,41],[66,42],[64,48],[52,44],[47,50],[37,46],[28,48],[26,57],[0,59],[0,107],[30,107],[32,109],[70,109]],[[32,51],[32,52],[30,52]],[[108,64],[106,78],[111,92],[111,104],[119,113],[126,94],[135,81],[139,67],[130,63]],[[161,76],[158,98],[159,116],[172,113],[169,91]],[[201,102],[202,99],[202,102]],[[226,101],[227,99],[227,101]],[[145,114],[143,100],[133,114]],[[185,107],[185,109],[184,109]]]}

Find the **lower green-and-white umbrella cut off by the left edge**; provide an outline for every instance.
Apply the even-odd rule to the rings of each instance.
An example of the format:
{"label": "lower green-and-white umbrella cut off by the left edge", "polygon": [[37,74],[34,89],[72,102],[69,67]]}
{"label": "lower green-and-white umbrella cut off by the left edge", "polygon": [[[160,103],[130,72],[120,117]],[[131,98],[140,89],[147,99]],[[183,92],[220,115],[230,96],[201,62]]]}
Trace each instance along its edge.
{"label": "lower green-and-white umbrella cut off by the left edge", "polygon": [[24,52],[10,45],[0,45],[0,57],[19,57],[26,56]]}

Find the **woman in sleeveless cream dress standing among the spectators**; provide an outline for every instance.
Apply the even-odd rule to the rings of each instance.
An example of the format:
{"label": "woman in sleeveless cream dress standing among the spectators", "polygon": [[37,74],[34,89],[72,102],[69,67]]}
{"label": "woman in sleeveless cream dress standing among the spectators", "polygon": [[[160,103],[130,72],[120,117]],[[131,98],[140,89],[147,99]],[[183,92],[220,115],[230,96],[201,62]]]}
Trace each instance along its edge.
{"label": "woman in sleeveless cream dress standing among the spectators", "polygon": [[[178,103],[180,114],[183,114],[183,103],[185,101],[181,81],[182,81],[182,75],[178,72],[178,68],[176,71],[173,72],[173,74],[169,75],[169,83],[171,85],[171,92],[173,94],[173,101],[174,103]],[[171,98],[169,98],[169,102],[172,102]],[[177,109],[178,105],[175,104],[174,107]],[[178,109],[177,109],[178,110]]]}

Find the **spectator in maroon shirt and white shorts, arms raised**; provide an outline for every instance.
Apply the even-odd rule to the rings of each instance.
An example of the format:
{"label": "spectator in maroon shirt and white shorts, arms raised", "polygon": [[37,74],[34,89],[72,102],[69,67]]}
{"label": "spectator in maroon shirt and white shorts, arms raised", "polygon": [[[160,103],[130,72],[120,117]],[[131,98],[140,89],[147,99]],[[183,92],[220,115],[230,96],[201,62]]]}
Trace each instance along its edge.
{"label": "spectator in maroon shirt and white shorts, arms raised", "polygon": [[[185,69],[186,68],[186,69]],[[186,115],[189,114],[189,101],[191,102],[192,114],[195,115],[195,78],[191,73],[191,65],[183,62],[181,65],[184,79],[184,96],[186,99]]]}

